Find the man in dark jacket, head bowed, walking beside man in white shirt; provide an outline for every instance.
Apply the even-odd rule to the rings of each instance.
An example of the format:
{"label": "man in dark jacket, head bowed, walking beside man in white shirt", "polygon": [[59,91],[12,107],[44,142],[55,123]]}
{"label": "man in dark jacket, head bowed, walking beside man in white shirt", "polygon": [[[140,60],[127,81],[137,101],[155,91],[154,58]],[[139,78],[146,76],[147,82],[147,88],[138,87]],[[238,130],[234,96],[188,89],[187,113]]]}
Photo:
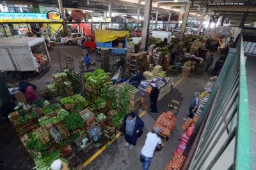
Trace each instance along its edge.
{"label": "man in dark jacket, head bowed, walking beside man in white shirt", "polygon": [[124,116],[120,131],[125,135],[125,146],[129,147],[129,150],[136,145],[138,134],[142,132],[143,127],[144,122],[136,115],[136,113],[131,111],[131,113]]}

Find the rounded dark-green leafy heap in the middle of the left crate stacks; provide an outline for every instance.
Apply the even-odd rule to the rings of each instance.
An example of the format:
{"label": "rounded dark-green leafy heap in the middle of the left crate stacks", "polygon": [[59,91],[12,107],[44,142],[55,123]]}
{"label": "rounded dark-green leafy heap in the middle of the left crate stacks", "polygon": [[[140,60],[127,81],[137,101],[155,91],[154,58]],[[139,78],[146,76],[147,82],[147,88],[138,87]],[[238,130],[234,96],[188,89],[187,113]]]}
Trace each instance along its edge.
{"label": "rounded dark-green leafy heap in the middle of the left crate stacks", "polygon": [[64,125],[67,127],[68,131],[73,131],[84,127],[84,120],[78,113],[72,113],[67,115],[63,119]]}

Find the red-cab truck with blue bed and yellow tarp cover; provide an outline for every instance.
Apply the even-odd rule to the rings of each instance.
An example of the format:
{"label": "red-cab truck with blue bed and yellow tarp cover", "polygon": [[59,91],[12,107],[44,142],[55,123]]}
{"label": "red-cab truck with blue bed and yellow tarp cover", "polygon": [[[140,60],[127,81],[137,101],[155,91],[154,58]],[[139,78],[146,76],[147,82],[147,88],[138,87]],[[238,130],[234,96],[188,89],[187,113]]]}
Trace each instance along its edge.
{"label": "red-cab truck with blue bed and yellow tarp cover", "polygon": [[[85,36],[83,46],[88,52],[95,51],[97,48],[109,48],[112,53],[125,54],[129,34],[129,31],[98,30],[95,34]],[[78,44],[81,44],[81,41]]]}

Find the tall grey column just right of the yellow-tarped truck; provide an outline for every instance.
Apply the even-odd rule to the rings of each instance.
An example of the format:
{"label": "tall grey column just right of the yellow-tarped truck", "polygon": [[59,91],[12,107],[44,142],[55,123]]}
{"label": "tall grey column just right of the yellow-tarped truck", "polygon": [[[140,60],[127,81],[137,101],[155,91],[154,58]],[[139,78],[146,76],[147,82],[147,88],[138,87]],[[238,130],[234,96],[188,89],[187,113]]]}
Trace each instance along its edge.
{"label": "tall grey column just right of the yellow-tarped truck", "polygon": [[143,31],[142,31],[142,39],[141,39],[141,47],[145,51],[147,51],[148,29],[150,24],[151,8],[152,8],[152,0],[145,1]]}

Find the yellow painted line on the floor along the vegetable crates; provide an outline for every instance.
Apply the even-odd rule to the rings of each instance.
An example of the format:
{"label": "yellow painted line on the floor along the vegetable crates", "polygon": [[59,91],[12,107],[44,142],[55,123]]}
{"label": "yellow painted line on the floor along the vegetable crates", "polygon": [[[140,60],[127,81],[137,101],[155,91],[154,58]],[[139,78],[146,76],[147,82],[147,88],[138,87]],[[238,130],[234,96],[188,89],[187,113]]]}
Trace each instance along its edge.
{"label": "yellow painted line on the floor along the vegetable crates", "polygon": [[[184,78],[180,78],[179,81],[177,81],[177,83],[175,83],[173,85],[173,87],[176,87],[177,85],[179,85],[179,83],[184,80]],[[140,113],[139,117],[143,117],[145,114],[147,113],[147,111],[143,111]],[[109,143],[107,143],[106,145],[102,146],[102,148],[100,148],[100,150],[98,150],[96,153],[94,153],[92,155],[92,157],[90,157],[89,159],[87,159],[84,163],[83,163],[83,167],[86,167],[88,164],[90,164],[90,162],[92,162],[95,158],[97,158],[104,150],[106,150],[107,145],[113,143],[116,139],[120,138],[120,136],[122,135],[122,132],[119,132],[118,134],[116,134],[116,138],[109,141]]]}

